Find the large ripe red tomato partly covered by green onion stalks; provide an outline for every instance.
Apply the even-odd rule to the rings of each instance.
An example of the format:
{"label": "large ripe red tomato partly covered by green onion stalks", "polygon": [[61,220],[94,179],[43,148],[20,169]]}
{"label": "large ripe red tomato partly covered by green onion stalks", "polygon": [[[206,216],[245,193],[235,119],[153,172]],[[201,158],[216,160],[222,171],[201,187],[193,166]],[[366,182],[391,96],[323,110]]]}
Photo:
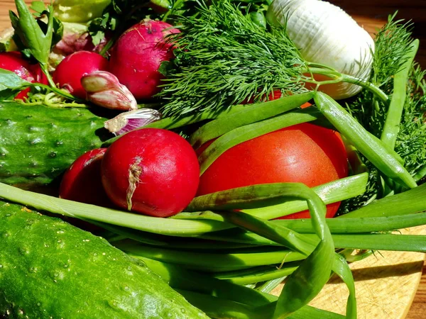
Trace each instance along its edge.
{"label": "large ripe red tomato partly covered by green onion stalks", "polygon": [[[202,148],[207,147],[203,145]],[[347,177],[344,145],[338,133],[302,123],[253,138],[222,154],[202,174],[197,195],[255,184],[300,182],[313,187]],[[327,206],[333,217],[340,203]],[[309,218],[309,212],[285,218]]]}

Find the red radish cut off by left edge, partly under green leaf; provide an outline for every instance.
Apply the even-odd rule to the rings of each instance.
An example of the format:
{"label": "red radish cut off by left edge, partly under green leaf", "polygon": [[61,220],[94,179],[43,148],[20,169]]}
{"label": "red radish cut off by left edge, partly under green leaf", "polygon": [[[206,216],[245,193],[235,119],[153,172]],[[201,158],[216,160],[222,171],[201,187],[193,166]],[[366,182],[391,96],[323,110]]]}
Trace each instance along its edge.
{"label": "red radish cut off by left edge, partly under green leaf", "polygon": [[[0,68],[14,72],[28,82],[35,82],[34,75],[31,72],[31,64],[28,61],[23,60],[20,52],[1,52]],[[30,88],[19,92],[15,99],[26,98],[29,91]]]}

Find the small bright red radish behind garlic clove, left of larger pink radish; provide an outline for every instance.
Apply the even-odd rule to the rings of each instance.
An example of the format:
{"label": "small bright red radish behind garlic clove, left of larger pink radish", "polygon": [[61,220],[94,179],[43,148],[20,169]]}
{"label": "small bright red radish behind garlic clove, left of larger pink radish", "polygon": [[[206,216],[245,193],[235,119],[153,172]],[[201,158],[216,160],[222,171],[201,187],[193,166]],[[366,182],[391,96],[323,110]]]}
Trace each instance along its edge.
{"label": "small bright red radish behind garlic clove, left of larger pink radish", "polygon": [[107,71],[108,60],[95,52],[79,51],[65,57],[53,73],[53,81],[70,94],[86,99],[81,84],[84,75],[95,71]]}

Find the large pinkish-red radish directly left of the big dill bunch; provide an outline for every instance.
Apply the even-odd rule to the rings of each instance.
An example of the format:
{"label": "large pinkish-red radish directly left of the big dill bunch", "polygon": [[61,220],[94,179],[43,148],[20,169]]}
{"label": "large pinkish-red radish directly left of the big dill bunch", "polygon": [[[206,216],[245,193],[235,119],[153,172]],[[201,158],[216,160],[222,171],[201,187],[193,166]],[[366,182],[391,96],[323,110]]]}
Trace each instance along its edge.
{"label": "large pinkish-red radish directly left of the big dill bunch", "polygon": [[[169,29],[170,28],[170,29]],[[178,33],[170,24],[145,20],[132,26],[117,40],[111,51],[110,72],[127,86],[137,100],[152,99],[160,89],[161,62],[173,58],[173,45],[164,37]]]}

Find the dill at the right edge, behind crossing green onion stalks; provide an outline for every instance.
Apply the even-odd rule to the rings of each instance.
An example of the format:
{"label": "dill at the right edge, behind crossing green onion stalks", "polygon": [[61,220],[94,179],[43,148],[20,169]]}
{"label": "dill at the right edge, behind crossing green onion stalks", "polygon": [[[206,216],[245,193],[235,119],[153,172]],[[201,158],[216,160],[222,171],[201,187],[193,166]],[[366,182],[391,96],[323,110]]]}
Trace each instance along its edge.
{"label": "dill at the right edge, behind crossing green onion stalks", "polygon": [[[393,76],[405,63],[406,52],[413,42],[412,24],[395,21],[394,18],[395,15],[389,16],[388,23],[376,34],[370,79],[388,96],[393,94]],[[414,63],[410,67],[403,116],[395,144],[395,151],[402,157],[405,167],[413,176],[426,164],[425,92],[425,71]],[[387,105],[364,89],[355,99],[348,101],[346,106],[366,130],[380,138],[386,121]],[[400,191],[396,185],[386,186],[376,167],[365,158],[363,161],[370,172],[367,191],[364,195],[343,203],[340,213],[364,206],[373,198],[380,198],[387,191],[392,191],[386,191],[386,187],[396,187],[393,191]]]}

